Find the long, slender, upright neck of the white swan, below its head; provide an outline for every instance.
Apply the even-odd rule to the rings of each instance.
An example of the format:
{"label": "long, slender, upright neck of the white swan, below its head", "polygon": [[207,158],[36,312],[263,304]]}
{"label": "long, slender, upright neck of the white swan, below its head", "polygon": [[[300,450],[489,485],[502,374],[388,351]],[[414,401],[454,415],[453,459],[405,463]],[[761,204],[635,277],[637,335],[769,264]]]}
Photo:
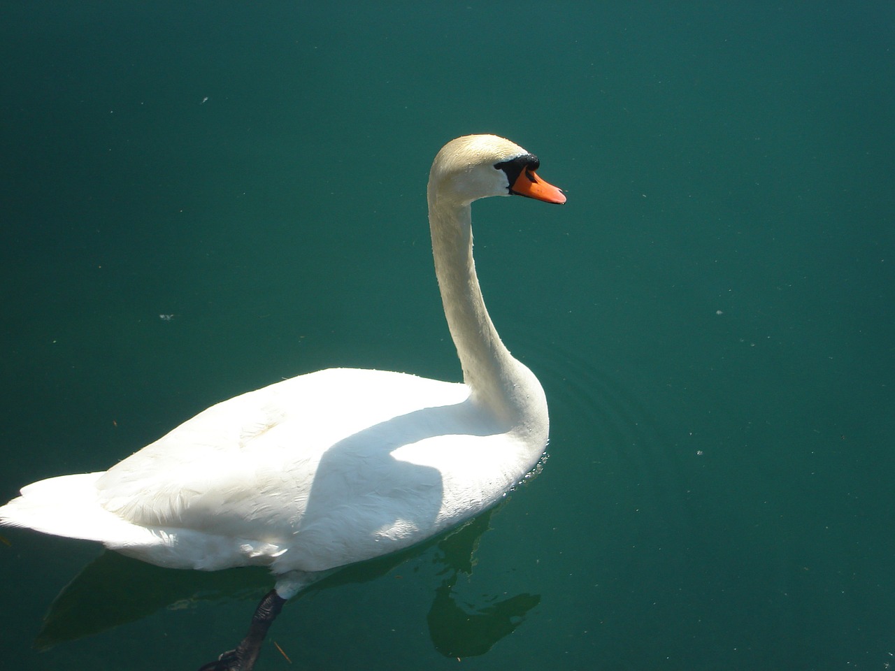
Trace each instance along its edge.
{"label": "long, slender, upright neck of the white swan, below its head", "polygon": [[507,350],[491,322],[473,262],[470,206],[430,200],[429,222],[435,274],[439,279],[447,326],[463,366],[473,402],[499,419],[524,421],[531,403],[530,387],[541,386]]}

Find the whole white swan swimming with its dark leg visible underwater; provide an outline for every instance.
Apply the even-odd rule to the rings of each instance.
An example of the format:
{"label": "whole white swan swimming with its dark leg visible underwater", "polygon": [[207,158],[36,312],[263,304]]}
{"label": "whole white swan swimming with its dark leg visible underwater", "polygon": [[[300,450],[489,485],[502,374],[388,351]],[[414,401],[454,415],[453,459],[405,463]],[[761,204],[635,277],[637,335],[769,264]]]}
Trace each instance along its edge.
{"label": "whole white swan swimming with its dark leg visible underwater", "polygon": [[471,216],[489,196],[564,203],[539,166],[495,135],[451,140],[432,163],[432,252],[462,383],[367,369],[286,379],[211,406],[108,471],[22,488],[0,524],[159,566],[267,566],[275,588],[248,635],[200,669],[249,671],[287,599],[481,513],[541,458],[547,401],[485,309]]}

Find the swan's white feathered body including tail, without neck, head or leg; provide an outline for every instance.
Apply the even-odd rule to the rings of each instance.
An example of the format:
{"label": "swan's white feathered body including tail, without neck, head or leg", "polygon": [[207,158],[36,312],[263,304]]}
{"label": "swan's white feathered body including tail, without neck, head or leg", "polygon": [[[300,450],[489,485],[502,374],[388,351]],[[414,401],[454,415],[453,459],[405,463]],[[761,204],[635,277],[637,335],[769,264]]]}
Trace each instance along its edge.
{"label": "swan's white feathered body including tail, without neck, head or leg", "polygon": [[218,403],[108,471],[29,485],[2,514],[156,565],[304,580],[482,511],[544,438],[529,455],[462,384],[327,369]]}

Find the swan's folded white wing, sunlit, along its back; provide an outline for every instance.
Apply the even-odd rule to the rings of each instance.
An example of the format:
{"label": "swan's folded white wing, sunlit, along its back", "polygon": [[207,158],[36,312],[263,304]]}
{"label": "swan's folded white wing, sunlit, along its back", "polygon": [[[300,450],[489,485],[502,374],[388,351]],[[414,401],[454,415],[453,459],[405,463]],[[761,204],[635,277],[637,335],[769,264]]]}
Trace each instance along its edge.
{"label": "swan's folded white wing, sunlit, along its back", "polygon": [[466,395],[463,385],[374,370],[288,379],[217,403],[116,464],[97,482],[100,503],[141,526],[279,535],[301,522],[332,446],[345,446],[346,472],[362,471],[356,462],[410,439],[375,427]]}

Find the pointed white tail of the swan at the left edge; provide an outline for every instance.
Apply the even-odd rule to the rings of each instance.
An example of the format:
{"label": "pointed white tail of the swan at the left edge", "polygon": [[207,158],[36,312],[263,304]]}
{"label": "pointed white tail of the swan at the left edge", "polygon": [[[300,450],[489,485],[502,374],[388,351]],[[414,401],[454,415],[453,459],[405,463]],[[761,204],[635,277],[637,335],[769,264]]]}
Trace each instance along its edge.
{"label": "pointed white tail of the swan at the left edge", "polygon": [[99,505],[96,482],[103,472],[62,475],[21,489],[0,506],[0,525],[27,527],[72,539],[98,540],[109,548],[151,543],[152,532]]}

